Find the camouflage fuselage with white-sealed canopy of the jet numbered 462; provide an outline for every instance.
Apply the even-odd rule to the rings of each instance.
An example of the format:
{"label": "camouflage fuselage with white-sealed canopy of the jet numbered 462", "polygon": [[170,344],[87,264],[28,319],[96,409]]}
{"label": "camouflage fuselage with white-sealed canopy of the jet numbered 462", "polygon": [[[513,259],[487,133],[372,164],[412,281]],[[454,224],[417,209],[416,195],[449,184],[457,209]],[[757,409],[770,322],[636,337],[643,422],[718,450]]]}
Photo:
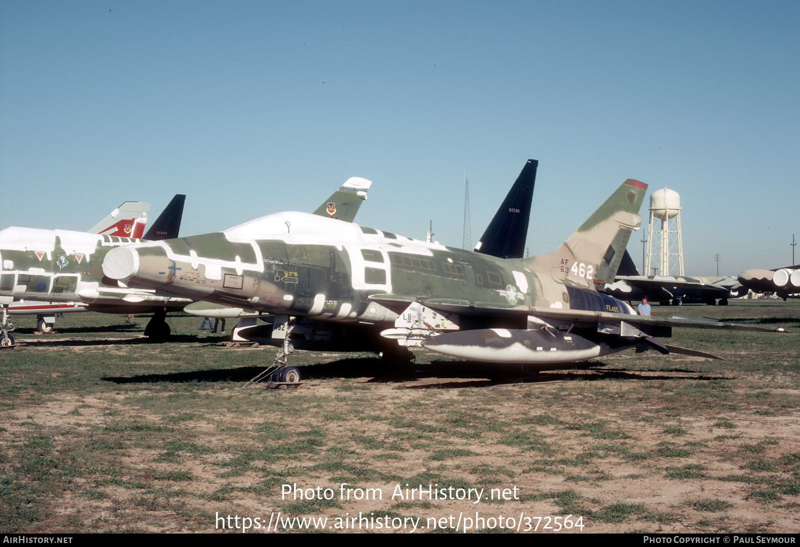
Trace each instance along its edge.
{"label": "camouflage fuselage with white-sealed canopy of the jet numbered 462", "polygon": [[[327,321],[394,322],[396,308],[370,300],[385,293],[410,301],[459,298],[634,313],[613,297],[535,273],[522,260],[296,212],[216,234],[119,247],[106,255],[103,270],[108,277],[186,297]],[[584,272],[596,270],[593,265]],[[497,317],[491,320],[498,325]],[[510,328],[526,328],[524,318],[509,321],[522,321]]]}

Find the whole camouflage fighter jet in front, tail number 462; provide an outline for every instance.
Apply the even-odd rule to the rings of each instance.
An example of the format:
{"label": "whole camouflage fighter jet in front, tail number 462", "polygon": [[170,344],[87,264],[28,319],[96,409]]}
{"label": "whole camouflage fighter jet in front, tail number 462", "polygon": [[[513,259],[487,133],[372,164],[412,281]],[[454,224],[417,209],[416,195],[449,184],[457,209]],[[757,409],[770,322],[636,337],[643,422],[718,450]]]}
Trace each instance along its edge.
{"label": "whole camouflage fighter jet in front, tail number 462", "polygon": [[355,333],[354,341],[379,334],[395,348],[422,345],[538,369],[634,347],[711,357],[664,344],[661,337],[674,326],[776,330],[702,317],[642,317],[597,292],[598,272],[616,263],[614,242],[641,222],[646,188],[626,180],[558,250],[535,258],[497,258],[286,212],[216,234],[118,247],[106,254],[103,272],[273,314],[278,339],[291,333],[294,318],[312,317],[330,331]]}

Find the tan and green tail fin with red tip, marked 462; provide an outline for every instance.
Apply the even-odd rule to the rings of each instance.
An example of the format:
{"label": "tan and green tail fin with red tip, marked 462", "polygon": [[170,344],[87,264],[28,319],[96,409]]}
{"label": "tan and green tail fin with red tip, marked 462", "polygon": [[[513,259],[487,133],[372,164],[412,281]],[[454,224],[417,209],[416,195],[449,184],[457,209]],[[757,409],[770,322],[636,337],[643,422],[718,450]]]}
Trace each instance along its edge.
{"label": "tan and green tail fin with red tip, marked 462", "polygon": [[613,283],[630,232],[642,223],[638,211],[646,191],[646,184],[629,178],[558,250],[530,258],[526,266],[586,288]]}

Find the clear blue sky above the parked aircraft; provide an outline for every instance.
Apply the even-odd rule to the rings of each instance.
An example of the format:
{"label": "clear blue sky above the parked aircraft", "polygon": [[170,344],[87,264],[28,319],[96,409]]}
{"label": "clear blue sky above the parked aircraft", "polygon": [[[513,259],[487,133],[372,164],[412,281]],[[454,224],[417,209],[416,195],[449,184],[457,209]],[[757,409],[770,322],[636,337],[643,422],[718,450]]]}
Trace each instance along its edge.
{"label": "clear blue sky above the parked aircraft", "polygon": [[535,158],[531,254],[638,178],[681,194],[687,274],[787,266],[798,25],[798,2],[6,0],[0,225],[181,193],[200,234],[358,176],[357,222],[461,246],[464,172],[475,242]]}

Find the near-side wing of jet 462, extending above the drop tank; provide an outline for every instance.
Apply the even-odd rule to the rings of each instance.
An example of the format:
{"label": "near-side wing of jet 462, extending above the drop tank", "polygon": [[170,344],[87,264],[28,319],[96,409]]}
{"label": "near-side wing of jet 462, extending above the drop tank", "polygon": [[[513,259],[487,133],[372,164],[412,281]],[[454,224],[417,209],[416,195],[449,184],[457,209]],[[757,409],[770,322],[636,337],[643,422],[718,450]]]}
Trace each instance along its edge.
{"label": "near-side wing of jet 462, extending above the drop tank", "polygon": [[[382,296],[382,295],[381,295]],[[386,295],[390,296],[390,295]],[[374,298],[382,302],[378,298]],[[729,330],[754,330],[767,332],[788,332],[780,329],[762,325],[746,325],[742,323],[727,323],[717,321],[708,317],[697,317],[684,313],[674,313],[671,317],[657,317],[634,315],[630,313],[614,313],[602,311],[590,311],[584,309],[558,309],[542,308],[534,305],[514,305],[498,304],[492,302],[473,302],[466,300],[451,300],[447,298],[428,298],[420,301],[422,305],[428,306],[439,312],[458,313],[462,315],[511,315],[524,314],[530,317],[538,317],[547,322],[556,321],[559,323],[597,323],[598,325],[616,324],[626,322],[632,325],[653,326],[653,327],[686,327],[690,329],[729,329]]]}

